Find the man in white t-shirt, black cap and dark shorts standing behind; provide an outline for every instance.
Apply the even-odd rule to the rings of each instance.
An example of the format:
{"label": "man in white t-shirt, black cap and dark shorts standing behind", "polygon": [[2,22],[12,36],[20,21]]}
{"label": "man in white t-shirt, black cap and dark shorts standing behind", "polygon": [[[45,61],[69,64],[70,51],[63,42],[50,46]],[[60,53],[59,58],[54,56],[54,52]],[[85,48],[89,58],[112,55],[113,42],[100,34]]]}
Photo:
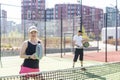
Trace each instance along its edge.
{"label": "man in white t-shirt, black cap and dark shorts standing behind", "polygon": [[83,66],[83,43],[85,40],[82,38],[82,31],[78,31],[78,34],[73,37],[73,46],[75,47],[75,55],[73,59],[73,68],[75,67],[75,62],[79,57],[81,62],[81,67]]}

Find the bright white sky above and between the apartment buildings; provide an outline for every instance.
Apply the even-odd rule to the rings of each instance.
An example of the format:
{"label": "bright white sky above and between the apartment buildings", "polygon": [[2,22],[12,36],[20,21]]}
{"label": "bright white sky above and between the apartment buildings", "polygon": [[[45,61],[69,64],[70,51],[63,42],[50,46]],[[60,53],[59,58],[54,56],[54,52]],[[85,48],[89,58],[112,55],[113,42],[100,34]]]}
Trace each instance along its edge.
{"label": "bright white sky above and between the apartment buildings", "polygon": [[[117,0],[118,9],[120,10],[120,0]],[[8,18],[18,19],[21,18],[21,0],[0,0],[1,4],[9,4],[9,5],[17,5],[14,6],[7,6],[1,5],[1,8],[7,11]],[[55,4],[59,3],[78,3],[78,0],[46,0],[46,7],[53,8]],[[79,3],[78,3],[79,4]],[[115,7],[116,0],[82,0],[83,5],[92,6],[96,8],[102,8],[105,12],[105,7]],[[18,21],[19,22],[19,21]]]}

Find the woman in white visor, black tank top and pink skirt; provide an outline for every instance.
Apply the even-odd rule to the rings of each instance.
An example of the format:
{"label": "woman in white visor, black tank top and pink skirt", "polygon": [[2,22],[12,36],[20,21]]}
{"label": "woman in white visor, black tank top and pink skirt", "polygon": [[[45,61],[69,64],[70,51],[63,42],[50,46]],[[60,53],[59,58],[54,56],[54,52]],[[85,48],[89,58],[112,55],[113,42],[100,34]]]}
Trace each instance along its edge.
{"label": "woman in white visor, black tank top and pink skirt", "polygon": [[20,57],[24,58],[24,62],[21,65],[20,74],[40,71],[39,60],[35,56],[36,45],[38,41],[41,42],[41,40],[38,39],[37,27],[29,27],[28,34],[29,39],[23,42],[22,47],[20,49]]}

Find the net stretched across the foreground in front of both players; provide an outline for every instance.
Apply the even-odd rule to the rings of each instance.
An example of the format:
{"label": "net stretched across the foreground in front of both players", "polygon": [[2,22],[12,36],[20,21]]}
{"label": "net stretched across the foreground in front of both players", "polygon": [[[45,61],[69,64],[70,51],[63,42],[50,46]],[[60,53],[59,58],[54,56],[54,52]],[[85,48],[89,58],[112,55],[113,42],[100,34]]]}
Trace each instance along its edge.
{"label": "net stretched across the foreground in front of both players", "polygon": [[94,65],[85,67],[85,69],[77,67],[40,73],[1,76],[0,80],[27,80],[28,78],[28,80],[107,80],[105,76],[109,77],[109,75],[109,79],[114,79],[114,75],[111,74],[117,76],[115,80],[120,80],[120,62]]}

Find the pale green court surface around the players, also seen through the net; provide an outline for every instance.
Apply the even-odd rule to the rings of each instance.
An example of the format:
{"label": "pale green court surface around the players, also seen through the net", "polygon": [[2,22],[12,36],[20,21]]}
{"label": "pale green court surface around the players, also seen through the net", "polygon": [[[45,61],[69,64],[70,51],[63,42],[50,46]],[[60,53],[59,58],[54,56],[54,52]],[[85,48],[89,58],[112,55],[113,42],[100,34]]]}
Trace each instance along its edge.
{"label": "pale green court surface around the players, also seen through the net", "polygon": [[[3,76],[8,76],[9,80],[11,75],[14,75],[11,80],[16,78],[19,80],[18,73],[22,62],[23,59],[18,56],[2,57],[1,79],[4,80]],[[72,58],[46,56],[40,61],[41,73],[38,74],[41,74],[45,80],[120,80],[120,62],[84,61],[84,67],[86,70],[81,70],[78,61],[75,68],[72,68]]]}

